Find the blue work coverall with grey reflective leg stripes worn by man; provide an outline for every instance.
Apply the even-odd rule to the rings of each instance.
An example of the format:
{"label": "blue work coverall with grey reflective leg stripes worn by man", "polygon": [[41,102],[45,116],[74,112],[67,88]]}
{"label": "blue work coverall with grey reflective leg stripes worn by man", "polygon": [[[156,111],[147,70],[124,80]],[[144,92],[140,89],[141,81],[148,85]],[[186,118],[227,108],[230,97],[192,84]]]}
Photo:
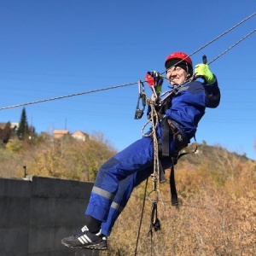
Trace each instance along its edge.
{"label": "blue work coverall with grey reflective leg stripes worn by man", "polygon": [[[167,108],[167,119],[174,120],[188,141],[195,136],[196,127],[206,108],[217,108],[220,101],[218,82],[212,84],[192,81],[184,83]],[[162,141],[161,124],[157,134]],[[172,136],[169,139],[170,155],[177,150]],[[172,166],[171,157],[160,158],[163,169]],[[102,234],[109,236],[115,220],[125,208],[132,190],[153,170],[154,147],[152,137],[142,137],[103,164],[97,172],[85,214],[102,221]]]}

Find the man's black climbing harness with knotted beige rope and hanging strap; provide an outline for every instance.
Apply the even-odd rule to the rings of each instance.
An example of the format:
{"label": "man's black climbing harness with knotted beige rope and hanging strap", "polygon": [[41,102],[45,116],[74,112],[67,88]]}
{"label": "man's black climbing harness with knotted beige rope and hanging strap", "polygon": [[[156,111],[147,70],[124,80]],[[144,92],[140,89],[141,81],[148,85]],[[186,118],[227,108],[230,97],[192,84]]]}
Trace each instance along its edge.
{"label": "man's black climbing harness with knotted beige rope and hanging strap", "polygon": [[[171,121],[166,118],[160,118],[159,116],[160,111],[165,111],[165,109],[169,108],[169,104],[172,104],[172,97],[175,96],[179,90],[183,90],[182,86],[184,84],[178,85],[177,88],[173,88],[170,90],[165,96],[163,100],[159,99],[159,103],[156,104],[156,102],[147,99],[147,103],[151,109],[150,112],[150,118],[148,119],[148,122],[143,125],[143,131],[145,127],[148,125],[149,122],[152,123],[151,125],[151,132],[149,134],[145,134],[143,132],[144,137],[153,137],[154,142],[154,172],[152,174],[152,181],[153,181],[153,190],[148,194],[150,195],[153,191],[156,192],[156,198],[154,202],[158,201],[158,195],[160,195],[160,183],[166,182],[166,177],[164,170],[160,164],[160,155],[161,157],[171,157],[172,159],[172,169],[170,173],[170,186],[171,186],[171,197],[172,197],[172,205],[177,206],[177,192],[175,187],[175,180],[174,180],[174,165],[177,163],[177,159],[179,159],[183,154],[179,154],[179,152],[188,146],[188,140],[186,139],[185,134],[181,133],[181,129],[178,129],[178,125],[175,121]],[[165,93],[164,93],[165,95]],[[165,109],[162,109],[165,108]],[[157,110],[158,109],[158,110]],[[158,125],[158,122],[161,122],[162,125],[162,144],[158,142],[158,138],[156,135],[156,127]],[[177,144],[177,151],[173,152],[172,155],[169,152],[169,136],[170,131],[172,131],[173,140]],[[186,153],[189,154],[189,153]],[[148,196],[149,198],[149,196]],[[150,200],[150,199],[149,199]],[[154,207],[152,207],[154,209]],[[151,224],[153,226],[154,224]]]}

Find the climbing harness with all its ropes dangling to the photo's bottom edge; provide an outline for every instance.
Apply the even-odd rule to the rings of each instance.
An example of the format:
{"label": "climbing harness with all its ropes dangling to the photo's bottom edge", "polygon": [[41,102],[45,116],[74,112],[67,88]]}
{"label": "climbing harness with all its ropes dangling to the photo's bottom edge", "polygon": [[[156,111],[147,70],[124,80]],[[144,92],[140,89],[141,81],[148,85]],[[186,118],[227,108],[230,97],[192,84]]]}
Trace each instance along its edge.
{"label": "climbing harness with all its ropes dangling to the photo's bottom edge", "polygon": [[[181,86],[177,86],[177,88],[174,88],[174,89],[168,91],[167,93],[164,93],[163,95],[165,96],[164,97],[165,101],[163,99],[162,100],[157,99],[158,102],[156,103],[156,101],[154,101],[154,100],[146,99],[148,106],[151,108],[151,112],[150,112],[148,122],[145,125],[143,125],[143,131],[144,131],[144,128],[148,125],[148,123],[151,122],[151,132],[147,133],[147,134],[144,134],[144,132],[143,132],[143,136],[144,137],[152,137],[153,143],[154,143],[154,171],[153,171],[153,174],[151,175],[153,188],[148,193],[148,200],[151,202],[150,226],[149,226],[149,230],[148,230],[148,236],[150,236],[150,241],[151,241],[151,255],[153,255],[153,246],[152,246],[153,245],[153,231],[156,232],[156,231],[160,230],[160,228],[161,228],[160,218],[158,218],[158,202],[161,201],[163,204],[163,207],[165,207],[162,197],[161,197],[161,194],[160,194],[160,183],[164,183],[166,181],[166,178],[165,178],[164,170],[163,170],[162,166],[160,165],[160,148],[159,148],[160,144],[158,143],[158,138],[157,138],[157,134],[156,134],[156,127],[160,121],[160,116],[159,116],[158,111],[160,110],[160,108],[163,108],[163,107],[167,108],[166,104],[170,101],[172,102],[172,97],[178,93],[180,88],[181,88]],[[143,95],[144,95],[144,90],[139,90],[138,101],[141,99],[142,91],[143,91]],[[144,97],[145,96],[143,96],[143,98]],[[137,109],[139,109],[139,108],[137,107]],[[139,109],[139,110],[141,110],[141,109]],[[173,125],[172,123],[168,123],[166,121],[166,124],[168,125],[168,128],[166,126],[166,128],[167,128],[166,130],[168,131],[168,133],[170,132],[170,129],[171,129],[174,137],[180,135],[179,131],[177,130],[177,127],[172,126]],[[168,139],[168,141],[169,141],[169,139]],[[184,147],[187,146],[187,143],[184,144],[183,146]],[[168,147],[168,149],[169,149],[169,147]],[[162,150],[162,148],[161,148],[161,150]],[[179,151],[180,150],[178,150],[178,152]],[[171,173],[170,173],[170,190],[171,190],[171,197],[172,197],[172,206],[177,206],[177,204],[178,204],[177,190],[176,190],[175,178],[174,178],[174,165],[176,164],[177,159],[180,157],[178,155],[178,152],[176,152],[176,154],[172,155],[172,168],[171,168]],[[168,157],[170,157],[169,153],[168,153]],[[144,205],[145,205],[147,184],[148,184],[148,179],[146,181],[145,194],[144,194],[144,199],[143,199],[143,210],[144,210]],[[152,198],[152,196],[151,196],[153,194],[154,194],[154,198]],[[137,233],[137,244],[138,244],[140,228],[141,228],[141,224],[142,224],[142,218],[143,218],[143,212],[141,214],[139,231]],[[135,255],[137,255],[137,245],[136,245],[136,249],[135,249]]]}

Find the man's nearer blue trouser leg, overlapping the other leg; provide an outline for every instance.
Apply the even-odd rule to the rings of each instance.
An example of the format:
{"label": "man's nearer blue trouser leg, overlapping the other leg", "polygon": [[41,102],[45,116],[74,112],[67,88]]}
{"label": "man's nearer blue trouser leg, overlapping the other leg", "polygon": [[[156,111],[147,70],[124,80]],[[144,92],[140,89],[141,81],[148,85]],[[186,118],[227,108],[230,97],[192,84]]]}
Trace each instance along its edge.
{"label": "man's nearer blue trouser leg, overlapping the other leg", "polygon": [[[152,167],[153,161],[152,139],[143,137],[102,165],[97,173],[94,187],[98,188],[98,191],[104,191],[103,193],[106,193],[106,195],[115,196],[119,189],[120,181],[139,170]],[[125,204],[128,198],[125,198]],[[112,202],[113,197],[105,197],[94,189],[91,192],[90,201],[85,213],[105,222],[107,221],[108,211]]]}

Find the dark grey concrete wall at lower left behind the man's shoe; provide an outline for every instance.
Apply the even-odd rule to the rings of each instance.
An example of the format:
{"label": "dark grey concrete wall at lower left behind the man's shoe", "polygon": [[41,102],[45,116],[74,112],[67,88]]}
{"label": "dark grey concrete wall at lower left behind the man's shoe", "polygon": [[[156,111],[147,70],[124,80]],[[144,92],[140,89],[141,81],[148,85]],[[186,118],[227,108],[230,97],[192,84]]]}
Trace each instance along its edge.
{"label": "dark grey concrete wall at lower left behind the man's shoe", "polygon": [[0,178],[0,255],[99,255],[61,244],[83,227],[92,185],[45,177]]}

